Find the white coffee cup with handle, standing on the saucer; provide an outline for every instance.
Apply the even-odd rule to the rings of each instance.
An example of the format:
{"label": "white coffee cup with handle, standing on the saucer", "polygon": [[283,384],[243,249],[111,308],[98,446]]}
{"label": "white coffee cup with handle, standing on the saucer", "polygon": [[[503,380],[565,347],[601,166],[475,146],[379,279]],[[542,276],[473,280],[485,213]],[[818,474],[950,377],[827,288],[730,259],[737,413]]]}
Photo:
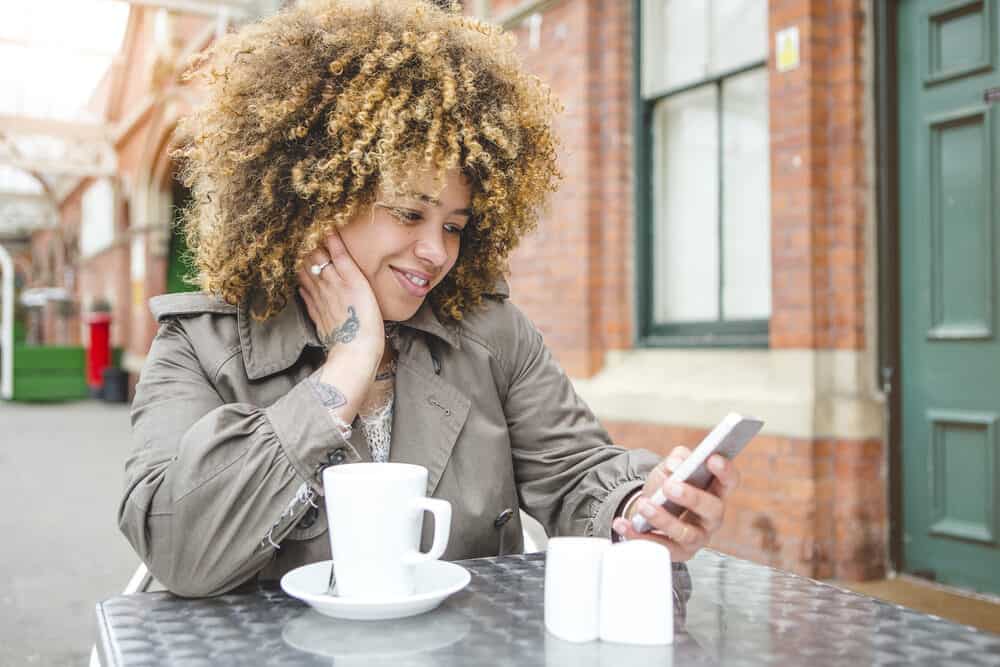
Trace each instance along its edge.
{"label": "white coffee cup with handle, standing on the saucer", "polygon": [[[336,593],[393,599],[416,591],[415,567],[448,546],[451,504],[427,497],[427,468],[408,463],[349,463],[323,471]],[[434,542],[420,551],[424,512]]]}

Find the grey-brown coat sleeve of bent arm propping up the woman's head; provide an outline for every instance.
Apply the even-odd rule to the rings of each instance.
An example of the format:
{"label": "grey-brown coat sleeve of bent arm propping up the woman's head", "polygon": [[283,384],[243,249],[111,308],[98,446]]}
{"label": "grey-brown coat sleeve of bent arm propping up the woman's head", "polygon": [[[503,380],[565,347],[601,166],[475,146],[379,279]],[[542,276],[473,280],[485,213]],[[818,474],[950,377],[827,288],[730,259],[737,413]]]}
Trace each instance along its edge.
{"label": "grey-brown coat sleeve of bent arm propping up the woman's head", "polygon": [[308,381],[260,407],[226,403],[217,372],[167,320],[132,405],[119,527],[156,579],[188,597],[223,593],[267,565],[315,502],[327,453],[353,454]]}

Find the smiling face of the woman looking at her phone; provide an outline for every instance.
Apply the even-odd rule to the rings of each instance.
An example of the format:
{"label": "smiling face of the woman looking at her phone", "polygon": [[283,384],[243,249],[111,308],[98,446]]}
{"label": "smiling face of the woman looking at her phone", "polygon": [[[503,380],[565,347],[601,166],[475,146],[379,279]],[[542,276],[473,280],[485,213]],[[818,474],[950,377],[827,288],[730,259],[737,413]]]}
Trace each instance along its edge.
{"label": "smiling face of the woman looking at her phone", "polygon": [[458,259],[472,189],[447,172],[435,198],[433,176],[417,174],[392,198],[380,197],[340,229],[347,251],[371,283],[386,320],[407,320]]}

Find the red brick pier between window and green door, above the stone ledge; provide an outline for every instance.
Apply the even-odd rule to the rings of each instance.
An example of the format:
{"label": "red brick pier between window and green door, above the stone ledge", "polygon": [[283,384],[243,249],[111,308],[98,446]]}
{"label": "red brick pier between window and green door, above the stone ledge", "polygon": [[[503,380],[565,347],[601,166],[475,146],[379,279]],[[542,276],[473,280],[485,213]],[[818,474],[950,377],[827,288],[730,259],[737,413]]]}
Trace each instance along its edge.
{"label": "red brick pier between window and green door, above the stone ledge", "polygon": [[863,7],[769,3],[772,35],[798,26],[802,58],[784,73],[771,59],[772,347],[865,344]]}

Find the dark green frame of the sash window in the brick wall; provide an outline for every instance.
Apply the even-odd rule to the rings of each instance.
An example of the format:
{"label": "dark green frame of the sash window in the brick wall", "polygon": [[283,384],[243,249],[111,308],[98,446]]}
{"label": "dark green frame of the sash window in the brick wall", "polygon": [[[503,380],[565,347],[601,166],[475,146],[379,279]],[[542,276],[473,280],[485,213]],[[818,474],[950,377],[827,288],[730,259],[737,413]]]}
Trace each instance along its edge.
{"label": "dark green frame of the sash window in the brick wall", "polygon": [[[725,277],[725,245],[723,237],[723,153],[722,142],[724,133],[722,84],[726,79],[746,74],[758,69],[768,69],[768,60],[756,60],[740,67],[731,68],[697,81],[681,84],[672,88],[657,91],[655,95],[643,96],[642,81],[642,3],[643,0],[632,1],[632,76],[633,76],[633,173],[635,174],[635,190],[633,193],[636,210],[635,234],[635,285],[636,285],[636,317],[635,343],[637,347],[741,347],[766,348],[770,341],[770,318],[754,320],[715,320],[704,322],[656,322],[653,318],[653,175],[652,151],[652,116],[656,105],[668,97],[686,93],[706,85],[716,87],[716,109],[718,113],[719,160],[718,170],[718,220],[719,235],[719,310],[722,311],[722,291]],[[770,34],[767,36],[770,42]],[[770,75],[770,72],[768,72]],[[769,76],[770,78],[770,76]],[[770,86],[768,86],[770,95]],[[768,215],[770,219],[770,214]],[[772,307],[773,308],[773,307]],[[773,316],[773,309],[772,309]]]}

